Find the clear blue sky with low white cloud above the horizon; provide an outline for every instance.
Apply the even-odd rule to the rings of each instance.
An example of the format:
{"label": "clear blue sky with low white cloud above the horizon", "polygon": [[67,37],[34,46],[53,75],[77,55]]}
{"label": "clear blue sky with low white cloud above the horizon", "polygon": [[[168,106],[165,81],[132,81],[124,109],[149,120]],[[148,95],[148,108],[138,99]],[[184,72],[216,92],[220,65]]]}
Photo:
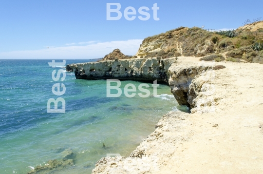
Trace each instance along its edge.
{"label": "clear blue sky with low white cloud above the horizon", "polygon": [[[119,20],[107,20],[107,3],[120,4]],[[0,59],[103,58],[116,48],[135,55],[146,37],[180,26],[235,29],[261,17],[262,6],[262,0],[0,0]],[[128,15],[134,20],[125,18],[127,7],[135,9]],[[143,11],[150,19],[139,19],[146,18],[140,7],[149,8]]]}

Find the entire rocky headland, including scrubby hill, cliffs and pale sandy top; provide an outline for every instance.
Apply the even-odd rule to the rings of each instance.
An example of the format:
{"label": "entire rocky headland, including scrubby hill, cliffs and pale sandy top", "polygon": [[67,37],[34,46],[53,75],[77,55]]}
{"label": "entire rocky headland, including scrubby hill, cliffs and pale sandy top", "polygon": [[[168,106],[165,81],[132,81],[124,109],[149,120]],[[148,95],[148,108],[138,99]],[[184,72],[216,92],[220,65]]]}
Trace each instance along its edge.
{"label": "entire rocky headland, including scrubby hill, cliffs and pale sandy top", "polygon": [[262,36],[251,36],[180,27],[144,39],[138,58],[67,65],[82,79],[157,79],[191,109],[169,112],[129,157],[103,157],[93,174],[262,173],[263,52],[251,47]]}

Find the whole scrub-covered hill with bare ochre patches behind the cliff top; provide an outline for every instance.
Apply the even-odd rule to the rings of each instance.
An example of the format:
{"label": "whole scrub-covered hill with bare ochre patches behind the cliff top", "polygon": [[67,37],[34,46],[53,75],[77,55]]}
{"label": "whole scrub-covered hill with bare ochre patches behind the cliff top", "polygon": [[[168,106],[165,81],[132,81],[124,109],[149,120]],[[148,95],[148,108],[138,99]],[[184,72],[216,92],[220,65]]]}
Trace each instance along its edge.
{"label": "whole scrub-covered hill with bare ochre patches behind the cliff top", "polygon": [[[204,57],[228,52],[227,58],[259,62],[263,55],[263,28],[259,28],[261,25],[263,21],[256,21],[255,25],[245,24],[245,32],[241,33],[242,28],[208,32],[198,27],[179,27],[144,39],[136,55],[146,58],[170,58],[181,55]],[[251,32],[249,28],[257,33]]]}

